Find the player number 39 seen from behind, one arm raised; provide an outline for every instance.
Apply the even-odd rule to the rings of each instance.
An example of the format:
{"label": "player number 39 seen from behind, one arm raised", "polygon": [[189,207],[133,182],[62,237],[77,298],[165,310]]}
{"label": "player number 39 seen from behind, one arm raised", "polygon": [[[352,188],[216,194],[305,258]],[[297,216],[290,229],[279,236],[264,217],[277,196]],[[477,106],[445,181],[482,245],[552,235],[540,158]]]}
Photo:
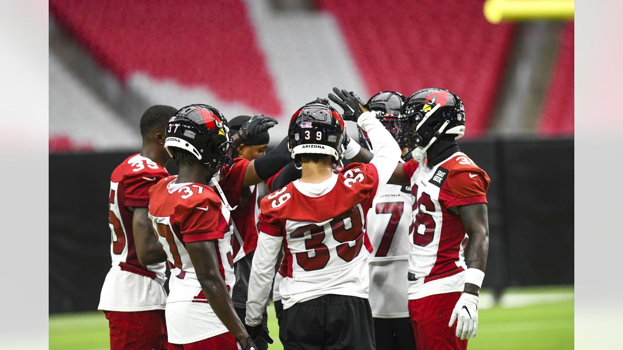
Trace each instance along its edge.
{"label": "player number 39 seen from behind, one arm raised", "polygon": [[[245,321],[259,327],[283,242],[284,349],[374,349],[365,217],[400,149],[374,113],[365,113],[363,103],[355,108],[344,118],[326,99],[299,108],[290,120],[288,144],[302,176],[260,203]],[[356,120],[377,151],[370,164],[350,164],[336,174],[345,120]]]}

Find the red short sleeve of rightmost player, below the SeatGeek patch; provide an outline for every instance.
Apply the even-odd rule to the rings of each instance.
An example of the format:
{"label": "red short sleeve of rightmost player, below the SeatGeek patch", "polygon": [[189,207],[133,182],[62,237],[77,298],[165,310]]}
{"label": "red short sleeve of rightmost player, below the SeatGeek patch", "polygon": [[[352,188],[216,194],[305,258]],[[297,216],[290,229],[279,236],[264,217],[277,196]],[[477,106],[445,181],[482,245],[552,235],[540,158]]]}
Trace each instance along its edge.
{"label": "red short sleeve of rightmost player, below the SeatGeek patch", "polygon": [[487,203],[489,177],[482,169],[460,169],[451,171],[446,180],[452,195],[447,207],[468,206]]}

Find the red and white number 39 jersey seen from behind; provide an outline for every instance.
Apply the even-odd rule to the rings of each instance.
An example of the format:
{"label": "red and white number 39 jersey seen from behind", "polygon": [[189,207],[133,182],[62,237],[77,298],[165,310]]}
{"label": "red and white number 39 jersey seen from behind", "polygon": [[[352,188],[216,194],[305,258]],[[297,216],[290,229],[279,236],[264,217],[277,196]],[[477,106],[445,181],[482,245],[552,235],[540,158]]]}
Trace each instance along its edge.
{"label": "red and white number 39 jersey seen from behind", "polygon": [[[373,164],[353,163],[323,184],[297,180],[262,199],[260,232],[283,240],[285,308],[330,293],[368,297],[365,218],[378,181]],[[311,196],[315,185],[326,191]]]}

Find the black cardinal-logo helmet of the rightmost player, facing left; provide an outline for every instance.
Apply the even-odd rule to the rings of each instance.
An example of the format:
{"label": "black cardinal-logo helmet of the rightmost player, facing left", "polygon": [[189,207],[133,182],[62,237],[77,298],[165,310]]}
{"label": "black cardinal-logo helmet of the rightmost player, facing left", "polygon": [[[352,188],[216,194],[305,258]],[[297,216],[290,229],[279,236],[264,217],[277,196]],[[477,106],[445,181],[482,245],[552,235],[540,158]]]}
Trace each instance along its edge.
{"label": "black cardinal-logo helmet of the rightmost player, facing left", "polygon": [[465,108],[461,99],[442,88],[425,88],[414,92],[402,105],[401,120],[406,124],[404,136],[416,161],[426,158],[426,150],[442,135],[465,134]]}

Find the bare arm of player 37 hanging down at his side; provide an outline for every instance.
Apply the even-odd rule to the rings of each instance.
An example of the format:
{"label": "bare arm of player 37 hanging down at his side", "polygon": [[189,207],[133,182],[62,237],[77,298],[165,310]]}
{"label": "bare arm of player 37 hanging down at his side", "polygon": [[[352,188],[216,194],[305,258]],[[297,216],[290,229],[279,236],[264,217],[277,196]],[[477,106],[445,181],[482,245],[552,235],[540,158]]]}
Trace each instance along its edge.
{"label": "bare arm of player 37 hanging down at his side", "polygon": [[236,315],[234,305],[227,292],[225,281],[219,272],[216,246],[213,240],[186,242],[186,250],[193,262],[197,280],[212,306],[212,310],[231,334],[240,342],[242,348],[249,347],[249,334]]}

